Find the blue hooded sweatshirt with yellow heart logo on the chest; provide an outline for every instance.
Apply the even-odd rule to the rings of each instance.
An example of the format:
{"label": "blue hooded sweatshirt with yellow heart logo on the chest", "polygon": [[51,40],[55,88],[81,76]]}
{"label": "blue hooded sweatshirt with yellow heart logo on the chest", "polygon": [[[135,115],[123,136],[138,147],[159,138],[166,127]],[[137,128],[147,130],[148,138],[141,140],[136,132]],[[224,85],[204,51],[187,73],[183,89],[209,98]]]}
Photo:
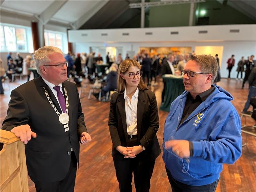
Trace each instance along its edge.
{"label": "blue hooded sweatshirt with yellow heart logo on the chest", "polygon": [[[171,105],[164,124],[164,142],[188,140],[193,143],[193,156],[178,157],[163,144],[163,159],[172,177],[192,186],[208,185],[219,179],[222,164],[233,164],[242,154],[241,123],[233,97],[221,87],[215,89],[188,118],[180,124],[188,92],[183,92]],[[180,125],[179,125],[180,124]]]}

